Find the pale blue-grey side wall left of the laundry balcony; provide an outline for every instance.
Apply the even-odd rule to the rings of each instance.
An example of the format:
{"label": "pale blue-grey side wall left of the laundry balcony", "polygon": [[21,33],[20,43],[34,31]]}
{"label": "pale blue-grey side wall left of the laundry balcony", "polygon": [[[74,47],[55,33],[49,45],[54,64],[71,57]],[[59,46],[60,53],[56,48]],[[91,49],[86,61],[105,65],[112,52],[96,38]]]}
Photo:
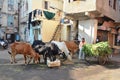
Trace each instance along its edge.
{"label": "pale blue-grey side wall left of the laundry balcony", "polygon": [[[19,34],[22,41],[30,41],[30,38],[28,36],[29,30],[26,30],[28,28],[28,13],[31,10],[31,0],[21,0],[20,2],[20,12],[19,12]],[[24,24],[23,24],[24,23]],[[27,32],[25,32],[27,31]],[[26,34],[25,34],[26,33]]]}

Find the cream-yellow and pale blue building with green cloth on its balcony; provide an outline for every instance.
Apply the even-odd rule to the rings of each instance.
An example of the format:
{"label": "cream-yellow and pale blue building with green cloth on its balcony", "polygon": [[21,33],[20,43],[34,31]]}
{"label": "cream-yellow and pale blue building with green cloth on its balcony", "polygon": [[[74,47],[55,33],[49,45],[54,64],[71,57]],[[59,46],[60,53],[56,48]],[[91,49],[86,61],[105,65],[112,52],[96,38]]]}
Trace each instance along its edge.
{"label": "cream-yellow and pale blue building with green cloth on its balcony", "polygon": [[50,41],[62,17],[62,0],[21,0],[20,3],[21,39],[30,43]]}

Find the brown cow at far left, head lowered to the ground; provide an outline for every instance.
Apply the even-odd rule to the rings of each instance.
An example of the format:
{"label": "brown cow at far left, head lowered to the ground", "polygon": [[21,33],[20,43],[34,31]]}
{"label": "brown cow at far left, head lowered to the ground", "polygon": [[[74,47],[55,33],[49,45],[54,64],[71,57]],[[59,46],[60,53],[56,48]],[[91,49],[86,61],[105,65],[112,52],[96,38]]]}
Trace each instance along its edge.
{"label": "brown cow at far left, head lowered to the ground", "polygon": [[16,63],[15,56],[17,54],[22,54],[25,59],[25,64],[27,63],[27,57],[30,58],[28,64],[30,63],[31,59],[34,58],[35,62],[38,63],[38,54],[32,49],[32,46],[29,43],[25,42],[14,42],[10,45],[11,52],[11,63]]}

